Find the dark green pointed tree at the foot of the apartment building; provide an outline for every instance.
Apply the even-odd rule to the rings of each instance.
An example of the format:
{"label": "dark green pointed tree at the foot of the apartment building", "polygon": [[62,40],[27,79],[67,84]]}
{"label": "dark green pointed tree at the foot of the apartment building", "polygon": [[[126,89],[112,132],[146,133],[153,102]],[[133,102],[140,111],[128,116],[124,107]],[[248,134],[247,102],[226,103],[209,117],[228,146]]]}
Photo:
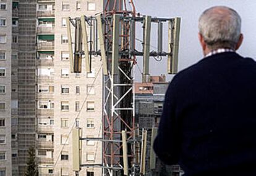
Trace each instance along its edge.
{"label": "dark green pointed tree at the foot of the apartment building", "polygon": [[35,148],[33,146],[28,149],[28,161],[25,176],[38,176]]}

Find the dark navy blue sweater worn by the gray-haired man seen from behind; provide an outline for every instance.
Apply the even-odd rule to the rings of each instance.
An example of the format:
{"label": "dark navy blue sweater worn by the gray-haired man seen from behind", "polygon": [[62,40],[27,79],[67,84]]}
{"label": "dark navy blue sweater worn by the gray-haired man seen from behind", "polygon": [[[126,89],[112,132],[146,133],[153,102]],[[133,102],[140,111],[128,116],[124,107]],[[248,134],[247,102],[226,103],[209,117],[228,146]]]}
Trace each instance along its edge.
{"label": "dark navy blue sweater worn by the gray-haired man seen from behind", "polygon": [[203,58],[169,84],[154,149],[190,175],[256,175],[256,62]]}

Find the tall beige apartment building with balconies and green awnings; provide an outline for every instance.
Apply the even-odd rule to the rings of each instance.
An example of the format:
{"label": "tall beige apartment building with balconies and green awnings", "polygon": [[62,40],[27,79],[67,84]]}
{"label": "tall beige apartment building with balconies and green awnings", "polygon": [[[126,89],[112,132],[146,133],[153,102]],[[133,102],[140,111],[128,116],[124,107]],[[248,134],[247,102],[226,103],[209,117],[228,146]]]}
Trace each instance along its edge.
{"label": "tall beige apartment building with balconies and green awnings", "polygon": [[[75,175],[71,129],[101,137],[100,57],[92,73],[70,73],[66,18],[102,11],[103,0],[0,0],[0,175],[23,175],[30,146],[41,176]],[[82,164],[101,155],[100,142],[82,142]]]}

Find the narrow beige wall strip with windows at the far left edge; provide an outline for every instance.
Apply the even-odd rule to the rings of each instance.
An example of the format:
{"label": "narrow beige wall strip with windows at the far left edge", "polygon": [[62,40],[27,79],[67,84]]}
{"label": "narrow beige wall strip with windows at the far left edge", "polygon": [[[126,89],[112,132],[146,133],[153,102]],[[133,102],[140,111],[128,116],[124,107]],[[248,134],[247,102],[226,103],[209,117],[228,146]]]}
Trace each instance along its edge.
{"label": "narrow beige wall strip with windows at the far left edge", "polygon": [[[0,1],[0,174],[12,175],[11,55],[12,1]],[[5,39],[3,39],[5,38]],[[4,56],[3,56],[4,55]],[[2,70],[5,73],[2,73]],[[4,89],[4,90],[3,90]],[[4,103],[4,105],[3,105]]]}

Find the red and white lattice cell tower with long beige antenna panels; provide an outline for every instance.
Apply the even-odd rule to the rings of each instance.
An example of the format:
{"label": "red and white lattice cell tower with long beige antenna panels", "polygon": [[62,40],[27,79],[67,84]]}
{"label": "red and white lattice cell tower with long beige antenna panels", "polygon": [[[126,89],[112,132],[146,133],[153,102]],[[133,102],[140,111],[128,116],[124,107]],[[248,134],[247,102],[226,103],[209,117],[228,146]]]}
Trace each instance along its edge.
{"label": "red and white lattice cell tower with long beige antenna panels", "polygon": [[[103,175],[145,175],[147,131],[140,129],[135,119],[134,67],[138,59],[143,59],[143,82],[150,78],[151,57],[167,58],[168,73],[177,72],[181,19],[140,16],[135,11],[133,0],[129,0],[129,4],[131,10],[127,10],[126,0],[108,0],[103,14],[67,18],[70,70],[80,73],[82,62],[85,62],[85,71],[90,73],[93,55],[101,55],[104,74],[103,138],[83,138],[79,135],[79,127],[73,129],[75,172],[79,172],[81,167],[101,167]],[[73,42],[71,26],[74,27]],[[140,30],[137,26],[141,26]],[[151,33],[154,30],[158,47],[151,51]],[[138,33],[142,34],[138,36],[143,36],[140,47],[136,45]],[[164,38],[164,34],[168,34],[168,38]],[[163,39],[168,39],[166,51]],[[103,142],[103,163],[82,163],[81,140]],[[151,155],[154,160],[155,156]]]}

